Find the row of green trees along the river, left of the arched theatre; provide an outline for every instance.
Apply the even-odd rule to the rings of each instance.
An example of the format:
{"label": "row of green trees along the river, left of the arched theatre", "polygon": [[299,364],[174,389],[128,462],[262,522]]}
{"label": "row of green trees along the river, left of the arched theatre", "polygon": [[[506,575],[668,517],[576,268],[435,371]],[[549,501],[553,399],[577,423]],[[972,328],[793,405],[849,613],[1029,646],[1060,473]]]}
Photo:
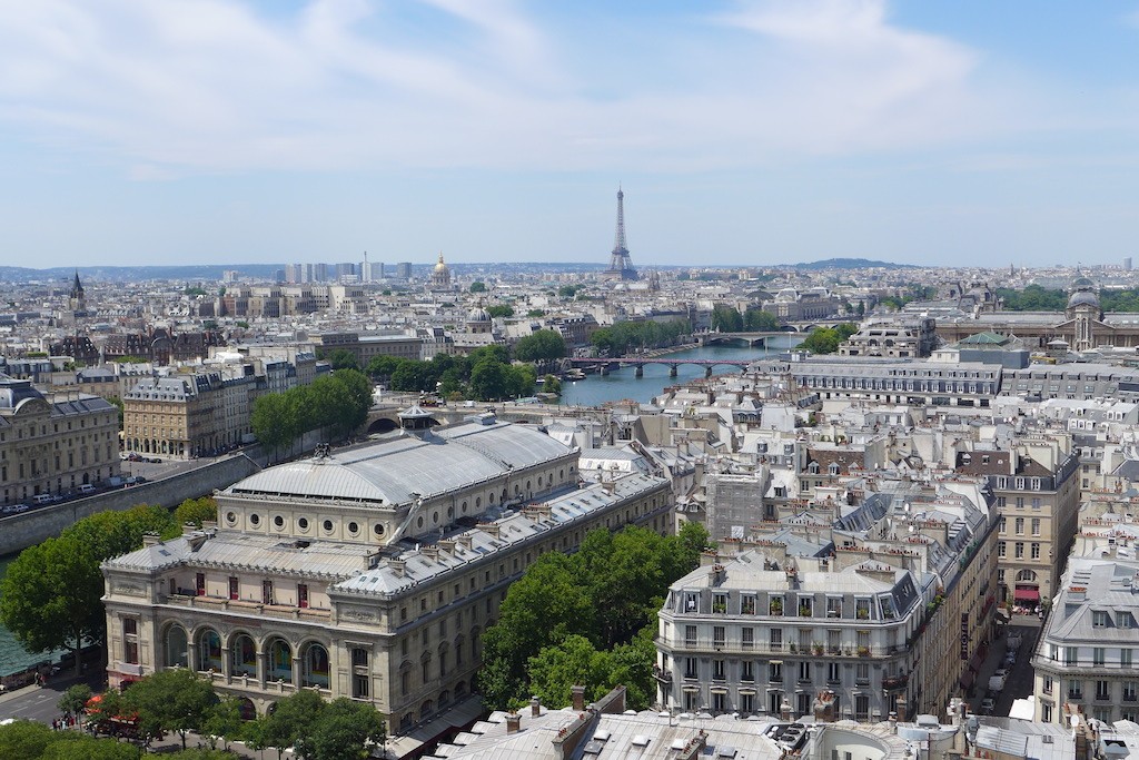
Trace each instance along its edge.
{"label": "row of green trees along the river, left of the arched theatre", "polygon": [[80,649],[106,639],[99,564],[141,547],[146,533],[174,538],[186,523],[216,518],[212,498],[188,499],[173,514],[139,505],[84,517],[13,561],[0,582],[0,621],[27,652],[72,652],[77,673]]}

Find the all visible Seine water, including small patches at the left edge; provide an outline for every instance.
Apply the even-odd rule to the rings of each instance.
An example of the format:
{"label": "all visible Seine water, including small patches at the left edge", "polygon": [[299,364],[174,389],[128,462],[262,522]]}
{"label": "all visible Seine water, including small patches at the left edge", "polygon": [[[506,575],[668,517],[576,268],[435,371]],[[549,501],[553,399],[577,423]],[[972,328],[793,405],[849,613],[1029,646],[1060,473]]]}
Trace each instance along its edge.
{"label": "all visible Seine water, including small patches at the left edge", "polygon": [[[788,335],[770,338],[770,348],[748,348],[740,344],[735,345],[710,345],[703,349],[689,349],[671,353],[669,359],[762,359],[769,354],[780,353],[796,345],[802,338]],[[734,367],[714,367],[716,375],[735,373]],[[652,401],[662,390],[677,383],[704,377],[704,367],[696,365],[680,365],[677,368],[677,377],[669,377],[667,365],[646,365],[644,377],[633,377],[633,368],[625,367],[605,377],[590,375],[588,379],[576,383],[565,383],[562,386],[562,403],[592,406],[605,401],[620,401],[632,399],[642,403]],[[0,578],[8,570],[11,557],[0,559]],[[47,655],[31,655],[24,652],[11,634],[0,627],[0,676],[7,676],[36,662],[47,659]]]}

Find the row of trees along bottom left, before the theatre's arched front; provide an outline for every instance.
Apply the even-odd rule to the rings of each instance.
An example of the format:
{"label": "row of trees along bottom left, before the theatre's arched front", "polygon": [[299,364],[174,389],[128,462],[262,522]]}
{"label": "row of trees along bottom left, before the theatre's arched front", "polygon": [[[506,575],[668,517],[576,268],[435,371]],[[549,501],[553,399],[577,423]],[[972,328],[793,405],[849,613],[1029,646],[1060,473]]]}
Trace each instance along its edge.
{"label": "row of trees along bottom left, before the theatre's arched front", "polygon": [[[72,686],[59,698],[58,708],[99,733],[129,725],[130,733],[144,743],[177,733],[182,752],[170,757],[195,760],[232,758],[228,752],[218,752],[216,745],[221,743],[224,751],[236,741],[253,750],[274,747],[278,754],[292,746],[303,760],[362,759],[369,755],[370,745],[382,745],[386,737],[383,716],[372,705],[346,697],[325,702],[312,689],[282,697],[268,716],[243,720],[240,700],[219,696],[210,681],[181,668],[159,670],[125,692],[107,692],[95,700],[85,685]],[[187,750],[190,732],[206,736],[211,750]],[[115,738],[51,732],[40,724],[21,721],[0,727],[0,757],[134,760],[138,750]]]}

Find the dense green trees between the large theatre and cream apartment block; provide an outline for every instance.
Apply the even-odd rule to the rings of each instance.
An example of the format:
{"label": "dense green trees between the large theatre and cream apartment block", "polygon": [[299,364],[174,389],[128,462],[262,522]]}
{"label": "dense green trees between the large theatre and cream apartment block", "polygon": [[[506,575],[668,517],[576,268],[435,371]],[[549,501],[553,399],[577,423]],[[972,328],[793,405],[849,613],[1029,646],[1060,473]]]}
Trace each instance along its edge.
{"label": "dense green trees between the large theatre and cream apartment block", "polygon": [[487,705],[521,706],[532,694],[564,705],[574,685],[597,700],[621,684],[631,708],[647,708],[657,610],[669,585],[694,570],[707,547],[697,523],[669,538],[636,526],[599,528],[576,554],[539,557],[483,635],[478,685]]}

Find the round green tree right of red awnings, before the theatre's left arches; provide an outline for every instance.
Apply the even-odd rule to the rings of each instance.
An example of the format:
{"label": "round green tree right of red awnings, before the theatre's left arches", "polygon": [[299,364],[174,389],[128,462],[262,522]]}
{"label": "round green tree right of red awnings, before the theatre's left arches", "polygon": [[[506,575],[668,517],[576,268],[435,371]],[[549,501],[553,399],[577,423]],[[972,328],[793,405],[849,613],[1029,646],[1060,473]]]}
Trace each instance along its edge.
{"label": "round green tree right of red awnings, before the theatre's left arches", "polygon": [[123,703],[138,714],[140,735],[156,737],[163,732],[178,732],[185,750],[187,733],[202,728],[218,695],[197,673],[170,668],[136,681],[123,694]]}

